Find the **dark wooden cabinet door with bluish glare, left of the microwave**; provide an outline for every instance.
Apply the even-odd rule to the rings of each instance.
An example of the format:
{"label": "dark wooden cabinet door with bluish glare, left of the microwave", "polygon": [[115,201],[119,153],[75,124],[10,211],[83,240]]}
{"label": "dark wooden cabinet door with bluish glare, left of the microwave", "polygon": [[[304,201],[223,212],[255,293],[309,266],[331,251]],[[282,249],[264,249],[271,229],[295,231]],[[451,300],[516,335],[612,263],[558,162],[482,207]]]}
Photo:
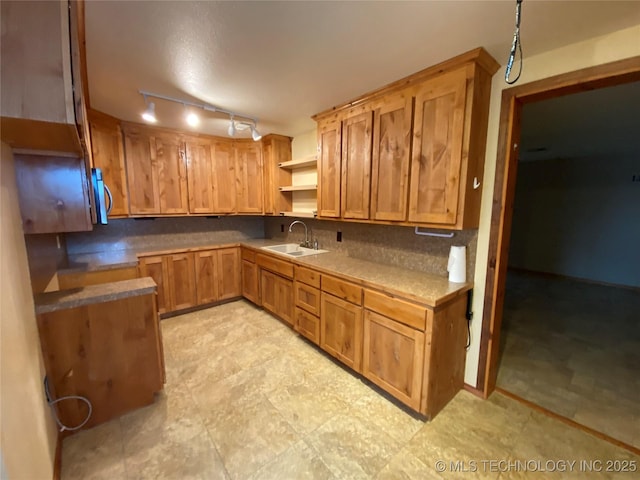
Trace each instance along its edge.
{"label": "dark wooden cabinet door with bluish glare, left of the microwave", "polygon": [[24,233],[89,231],[89,192],[84,160],[15,155]]}

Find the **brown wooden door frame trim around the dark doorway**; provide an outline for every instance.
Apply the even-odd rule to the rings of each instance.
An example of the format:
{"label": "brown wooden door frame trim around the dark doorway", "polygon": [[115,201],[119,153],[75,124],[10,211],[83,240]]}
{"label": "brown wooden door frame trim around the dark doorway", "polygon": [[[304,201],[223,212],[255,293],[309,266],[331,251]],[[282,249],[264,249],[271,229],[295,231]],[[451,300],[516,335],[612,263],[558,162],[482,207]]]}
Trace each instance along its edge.
{"label": "brown wooden door frame trim around the dark doorway", "polygon": [[[480,341],[480,369],[477,383],[485,397],[489,396],[496,388],[498,375],[523,107],[526,104],[576,92],[637,81],[640,81],[640,57],[633,57],[520,85],[504,90],[502,93],[482,338]],[[568,420],[568,422],[571,421]],[[592,433],[597,432],[589,427],[586,429]],[[603,436],[614,440],[607,435]],[[624,442],[623,445],[638,450]]]}

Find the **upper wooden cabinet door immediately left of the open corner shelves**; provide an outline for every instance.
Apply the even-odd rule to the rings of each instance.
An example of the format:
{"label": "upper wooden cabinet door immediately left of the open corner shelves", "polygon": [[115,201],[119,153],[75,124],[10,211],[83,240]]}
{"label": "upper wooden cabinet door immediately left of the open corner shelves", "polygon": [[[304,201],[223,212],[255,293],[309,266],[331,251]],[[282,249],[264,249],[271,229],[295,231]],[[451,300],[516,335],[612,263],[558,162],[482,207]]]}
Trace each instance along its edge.
{"label": "upper wooden cabinet door immediately left of the open corner shelves", "polygon": [[257,142],[236,142],[238,213],[262,213],[262,152]]}

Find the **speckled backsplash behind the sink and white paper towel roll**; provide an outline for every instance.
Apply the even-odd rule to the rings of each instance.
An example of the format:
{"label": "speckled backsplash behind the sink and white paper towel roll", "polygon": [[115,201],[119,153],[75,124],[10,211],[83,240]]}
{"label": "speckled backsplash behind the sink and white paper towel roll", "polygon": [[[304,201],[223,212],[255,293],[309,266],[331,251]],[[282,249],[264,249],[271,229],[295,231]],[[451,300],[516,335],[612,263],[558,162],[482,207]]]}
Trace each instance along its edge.
{"label": "speckled backsplash behind the sink and white paper towel roll", "polygon": [[[294,225],[289,233],[289,225],[294,220],[289,217],[265,218],[265,237],[300,243],[304,240],[301,225]],[[467,247],[467,279],[473,278],[477,230],[456,231],[453,238],[438,238],[416,235],[414,227],[300,220],[309,228],[311,240],[318,239],[320,248],[435,275],[447,276],[449,249],[452,245],[464,245]],[[283,227],[284,232],[281,231]],[[341,242],[336,240],[338,231],[342,233]]]}

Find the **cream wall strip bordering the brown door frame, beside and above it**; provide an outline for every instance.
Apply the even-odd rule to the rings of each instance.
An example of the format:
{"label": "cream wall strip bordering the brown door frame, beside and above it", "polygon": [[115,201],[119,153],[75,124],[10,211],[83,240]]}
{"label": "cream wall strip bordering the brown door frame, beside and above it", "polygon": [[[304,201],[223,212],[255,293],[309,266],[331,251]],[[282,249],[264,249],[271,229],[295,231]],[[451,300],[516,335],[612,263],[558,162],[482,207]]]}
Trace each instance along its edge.
{"label": "cream wall strip bordering the brown door frame, beside and above it", "polygon": [[[523,38],[526,42],[526,36]],[[508,52],[505,52],[505,58]],[[552,77],[561,73],[601,65],[640,55],[640,25],[595,37],[583,42],[567,45],[533,57],[526,56],[522,77],[518,85]],[[503,62],[504,59],[498,59]],[[496,155],[498,149],[498,130],[500,122],[500,103],[502,90],[509,87],[504,82],[504,67],[493,77],[491,88],[491,108],[489,111],[489,129],[487,132],[487,152],[484,167],[484,186],[482,207],[480,210],[480,228],[478,231],[478,254],[474,277],[473,322],[471,323],[471,347],[467,352],[465,382],[476,385],[478,360],[480,355],[480,335],[485,295],[485,280],[489,252],[489,233],[491,223],[491,203],[495,180]],[[484,365],[482,366],[484,368]]]}

